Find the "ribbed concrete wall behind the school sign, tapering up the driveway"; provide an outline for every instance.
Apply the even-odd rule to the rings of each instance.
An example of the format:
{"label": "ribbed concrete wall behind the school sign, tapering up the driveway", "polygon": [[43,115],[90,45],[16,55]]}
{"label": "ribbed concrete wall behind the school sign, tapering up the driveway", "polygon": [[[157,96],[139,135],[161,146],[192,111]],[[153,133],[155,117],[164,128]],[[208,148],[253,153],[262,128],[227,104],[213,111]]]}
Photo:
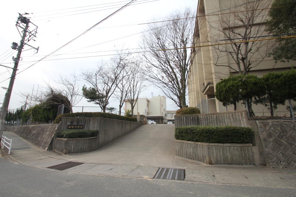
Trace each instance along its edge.
{"label": "ribbed concrete wall behind the school sign, tapering up the driveway", "polygon": [[85,129],[99,130],[98,148],[116,140],[124,134],[143,125],[139,122],[115,120],[109,118],[73,118],[62,117],[59,130],[66,130],[67,125],[84,125]]}

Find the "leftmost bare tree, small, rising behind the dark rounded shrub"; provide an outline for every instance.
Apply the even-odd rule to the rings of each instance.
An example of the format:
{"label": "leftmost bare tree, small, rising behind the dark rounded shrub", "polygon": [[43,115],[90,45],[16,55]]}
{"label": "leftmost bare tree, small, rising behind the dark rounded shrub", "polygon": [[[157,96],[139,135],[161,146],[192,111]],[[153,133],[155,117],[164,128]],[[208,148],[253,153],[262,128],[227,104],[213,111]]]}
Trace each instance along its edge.
{"label": "leftmost bare tree, small, rising behind the dark rounded shrub", "polygon": [[60,75],[59,80],[57,81],[57,83],[61,85],[59,90],[69,99],[71,103],[71,113],[73,113],[73,106],[77,105],[83,98],[78,81],[78,77],[75,73],[73,73],[70,77]]}

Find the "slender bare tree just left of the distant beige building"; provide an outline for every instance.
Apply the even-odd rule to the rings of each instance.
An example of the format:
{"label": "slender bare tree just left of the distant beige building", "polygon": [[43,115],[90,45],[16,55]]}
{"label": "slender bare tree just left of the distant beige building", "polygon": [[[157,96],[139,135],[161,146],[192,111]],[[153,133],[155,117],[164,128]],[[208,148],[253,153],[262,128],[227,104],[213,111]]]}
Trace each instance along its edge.
{"label": "slender bare tree just left of the distant beige building", "polygon": [[133,115],[133,109],[138,102],[138,98],[141,92],[146,89],[145,74],[143,72],[143,62],[139,57],[134,58],[128,67],[127,86],[126,86],[126,101],[131,104],[131,114]]}

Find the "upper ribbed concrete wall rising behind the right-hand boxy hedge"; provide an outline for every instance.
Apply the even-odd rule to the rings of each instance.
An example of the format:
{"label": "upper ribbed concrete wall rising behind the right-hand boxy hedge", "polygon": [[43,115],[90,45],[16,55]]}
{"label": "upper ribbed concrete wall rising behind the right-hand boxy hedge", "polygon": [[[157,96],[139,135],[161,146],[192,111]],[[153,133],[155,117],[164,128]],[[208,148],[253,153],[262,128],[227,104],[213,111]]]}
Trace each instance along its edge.
{"label": "upper ribbed concrete wall rising behind the right-hand boxy hedge", "polygon": [[247,112],[239,110],[214,114],[175,115],[175,127],[188,125],[247,127]]}

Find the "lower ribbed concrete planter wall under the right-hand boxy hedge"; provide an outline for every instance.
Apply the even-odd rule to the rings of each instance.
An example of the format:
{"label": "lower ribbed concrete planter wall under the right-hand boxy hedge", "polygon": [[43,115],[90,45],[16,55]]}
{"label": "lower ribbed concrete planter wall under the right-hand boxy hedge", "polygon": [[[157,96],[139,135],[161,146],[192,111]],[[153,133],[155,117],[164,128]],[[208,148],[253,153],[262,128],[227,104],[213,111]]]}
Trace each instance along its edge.
{"label": "lower ribbed concrete planter wall under the right-hand boxy hedge", "polygon": [[255,164],[252,144],[202,143],[176,141],[176,156],[207,164]]}

